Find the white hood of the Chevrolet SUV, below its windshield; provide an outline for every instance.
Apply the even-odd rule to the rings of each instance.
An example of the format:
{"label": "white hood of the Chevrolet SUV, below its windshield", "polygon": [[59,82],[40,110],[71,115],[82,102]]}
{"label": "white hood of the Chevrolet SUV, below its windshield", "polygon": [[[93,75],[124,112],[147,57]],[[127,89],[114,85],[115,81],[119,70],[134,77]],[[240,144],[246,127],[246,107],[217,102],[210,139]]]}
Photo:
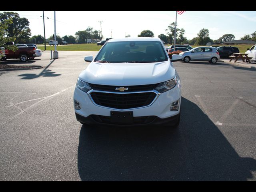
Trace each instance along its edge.
{"label": "white hood of the Chevrolet SUV, below its windshield", "polygon": [[99,63],[91,62],[80,73],[82,81],[116,86],[156,84],[175,76],[170,60],[156,63]]}

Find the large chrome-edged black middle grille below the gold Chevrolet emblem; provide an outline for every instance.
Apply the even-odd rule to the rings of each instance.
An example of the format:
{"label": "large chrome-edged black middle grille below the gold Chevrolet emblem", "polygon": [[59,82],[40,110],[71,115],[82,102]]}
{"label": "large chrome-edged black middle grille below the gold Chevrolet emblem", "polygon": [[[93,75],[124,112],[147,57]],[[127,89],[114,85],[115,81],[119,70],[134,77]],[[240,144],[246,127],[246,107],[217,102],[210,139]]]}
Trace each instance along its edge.
{"label": "large chrome-edged black middle grille below the gold Chevrolet emblem", "polygon": [[131,109],[148,106],[154,100],[156,94],[154,92],[128,94],[92,92],[91,96],[94,102],[100,106]]}

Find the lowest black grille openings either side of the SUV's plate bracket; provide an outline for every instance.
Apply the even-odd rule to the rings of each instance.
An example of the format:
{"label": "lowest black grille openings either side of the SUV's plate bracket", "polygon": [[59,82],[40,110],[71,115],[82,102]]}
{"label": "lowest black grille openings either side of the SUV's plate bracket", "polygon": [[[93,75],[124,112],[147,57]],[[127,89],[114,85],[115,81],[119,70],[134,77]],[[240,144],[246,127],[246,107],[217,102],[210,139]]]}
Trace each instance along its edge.
{"label": "lowest black grille openings either side of the SUV's plate bracket", "polygon": [[[96,122],[112,124],[110,120],[110,116],[102,116],[102,115],[90,115]],[[154,121],[156,116],[141,116],[141,117],[133,117],[132,123],[118,123],[120,125],[136,125],[136,124],[149,124]]]}

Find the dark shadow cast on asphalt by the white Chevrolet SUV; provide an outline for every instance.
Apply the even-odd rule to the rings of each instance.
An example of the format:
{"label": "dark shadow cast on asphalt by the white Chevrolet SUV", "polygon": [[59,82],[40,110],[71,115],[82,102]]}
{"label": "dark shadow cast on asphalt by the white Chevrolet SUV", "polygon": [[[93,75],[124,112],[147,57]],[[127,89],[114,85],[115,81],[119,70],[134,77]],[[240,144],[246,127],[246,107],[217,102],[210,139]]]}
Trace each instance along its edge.
{"label": "dark shadow cast on asphalt by the white Chevrolet SUV", "polygon": [[182,97],[178,129],[163,126],[80,130],[78,172],[86,181],[246,181],[256,160],[240,157],[217,126]]}

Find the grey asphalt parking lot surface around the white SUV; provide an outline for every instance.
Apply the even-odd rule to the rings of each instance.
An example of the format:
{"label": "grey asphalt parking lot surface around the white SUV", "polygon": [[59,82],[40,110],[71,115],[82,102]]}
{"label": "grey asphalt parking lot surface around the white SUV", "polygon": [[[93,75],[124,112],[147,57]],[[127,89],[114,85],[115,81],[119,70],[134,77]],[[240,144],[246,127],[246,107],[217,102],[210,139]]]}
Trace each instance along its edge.
{"label": "grey asphalt parking lot surface around the white SUV", "polygon": [[25,64],[42,69],[0,72],[0,180],[256,181],[256,70],[175,62],[178,129],[82,126],[73,93],[96,53],[45,51]]}

